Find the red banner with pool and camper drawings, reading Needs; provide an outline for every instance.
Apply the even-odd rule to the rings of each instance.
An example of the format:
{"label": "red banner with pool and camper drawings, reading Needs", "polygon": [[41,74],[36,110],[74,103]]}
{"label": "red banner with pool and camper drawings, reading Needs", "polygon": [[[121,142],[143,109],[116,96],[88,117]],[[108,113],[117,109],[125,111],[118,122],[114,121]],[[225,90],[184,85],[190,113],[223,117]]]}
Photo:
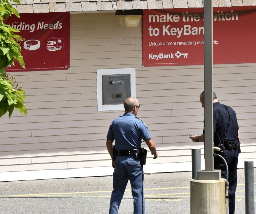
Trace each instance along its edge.
{"label": "red banner with pool and camper drawings, reading Needs", "polygon": [[10,71],[69,69],[69,13],[29,13],[12,15],[7,24],[20,31],[25,69],[18,62]]}

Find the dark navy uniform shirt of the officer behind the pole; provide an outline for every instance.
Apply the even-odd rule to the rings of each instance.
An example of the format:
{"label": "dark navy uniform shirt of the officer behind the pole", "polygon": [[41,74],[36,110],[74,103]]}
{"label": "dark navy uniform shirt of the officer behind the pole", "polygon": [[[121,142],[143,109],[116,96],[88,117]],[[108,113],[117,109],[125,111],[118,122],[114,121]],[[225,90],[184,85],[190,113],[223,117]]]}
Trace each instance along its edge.
{"label": "dark navy uniform shirt of the officer behind the pole", "polygon": [[[213,142],[215,146],[220,143],[220,140],[221,143],[238,140],[239,127],[236,112],[230,106],[226,107],[228,110],[219,102],[213,104]],[[228,111],[230,113],[230,123]]]}

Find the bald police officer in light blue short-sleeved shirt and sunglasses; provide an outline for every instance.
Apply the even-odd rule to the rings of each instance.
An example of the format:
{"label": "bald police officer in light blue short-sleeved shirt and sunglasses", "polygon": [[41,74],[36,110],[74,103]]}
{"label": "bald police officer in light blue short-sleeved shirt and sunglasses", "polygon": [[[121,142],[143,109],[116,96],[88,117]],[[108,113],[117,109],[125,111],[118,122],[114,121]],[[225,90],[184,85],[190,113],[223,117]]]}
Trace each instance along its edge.
{"label": "bald police officer in light blue short-sleeved shirt and sunglasses", "polygon": [[[145,213],[145,199],[143,190],[143,167],[134,151],[141,148],[143,139],[154,159],[157,158],[155,143],[151,140],[146,124],[136,118],[140,104],[136,98],[129,97],[124,102],[125,113],[112,121],[106,139],[106,147],[112,158],[113,191],[110,200],[109,213],[118,213],[125,188],[130,180],[133,197],[133,213]],[[113,142],[117,156],[113,160]]]}

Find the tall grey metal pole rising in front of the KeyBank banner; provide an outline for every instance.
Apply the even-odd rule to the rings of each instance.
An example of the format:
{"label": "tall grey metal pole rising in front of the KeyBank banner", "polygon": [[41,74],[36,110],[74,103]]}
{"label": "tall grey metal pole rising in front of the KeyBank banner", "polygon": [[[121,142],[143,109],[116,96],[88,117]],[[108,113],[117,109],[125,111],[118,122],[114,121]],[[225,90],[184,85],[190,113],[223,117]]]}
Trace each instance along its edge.
{"label": "tall grey metal pole rising in front of the KeyBank banner", "polygon": [[213,171],[213,35],[212,0],[204,0],[204,154],[205,171]]}

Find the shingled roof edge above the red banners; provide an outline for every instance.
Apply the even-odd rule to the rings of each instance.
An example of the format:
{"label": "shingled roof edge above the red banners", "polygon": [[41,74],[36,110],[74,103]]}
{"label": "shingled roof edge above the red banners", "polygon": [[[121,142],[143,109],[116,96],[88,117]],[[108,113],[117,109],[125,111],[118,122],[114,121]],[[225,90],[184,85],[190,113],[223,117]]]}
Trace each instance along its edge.
{"label": "shingled roof edge above the red banners", "polygon": [[[109,12],[134,9],[203,7],[203,0],[21,0],[18,13]],[[256,0],[213,0],[213,7],[252,6]]]}

